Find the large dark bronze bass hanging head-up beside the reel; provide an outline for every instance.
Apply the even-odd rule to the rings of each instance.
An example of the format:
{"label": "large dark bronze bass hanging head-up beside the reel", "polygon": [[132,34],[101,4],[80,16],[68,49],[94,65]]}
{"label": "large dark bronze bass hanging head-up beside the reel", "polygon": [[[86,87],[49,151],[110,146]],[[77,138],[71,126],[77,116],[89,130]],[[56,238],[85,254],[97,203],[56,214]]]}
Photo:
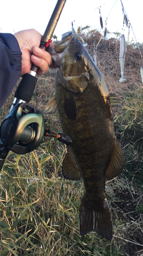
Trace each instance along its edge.
{"label": "large dark bronze bass hanging head-up beside the reel", "polygon": [[[106,84],[92,57],[73,33],[48,52],[60,68],[56,73],[55,97],[48,101],[43,112],[50,114],[52,109],[57,109],[62,131],[72,139],[62,173],[65,179],[83,180],[80,234],[96,231],[111,241],[112,220],[105,181],[122,173],[125,156],[115,138]],[[111,97],[112,101],[116,98],[114,94]]]}

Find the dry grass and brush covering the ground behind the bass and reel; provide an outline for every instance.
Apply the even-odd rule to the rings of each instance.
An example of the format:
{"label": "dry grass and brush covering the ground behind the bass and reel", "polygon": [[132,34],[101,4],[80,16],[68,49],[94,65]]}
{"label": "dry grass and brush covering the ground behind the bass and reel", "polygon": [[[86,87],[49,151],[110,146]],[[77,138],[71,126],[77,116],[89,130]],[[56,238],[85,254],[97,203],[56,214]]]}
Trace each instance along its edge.
{"label": "dry grass and brush covering the ground behind the bass and reel", "polygon": [[[101,34],[90,28],[77,31],[93,47]],[[1,255],[143,255],[143,101],[140,58],[136,45],[128,44],[124,83],[119,82],[120,43],[101,39],[97,47],[97,66],[109,93],[119,95],[113,108],[116,136],[125,151],[126,165],[120,177],[106,183],[106,196],[112,212],[113,239],[97,233],[79,234],[79,206],[82,181],[65,180],[61,174],[66,146],[51,138],[34,152],[10,152],[0,173],[0,256]],[[141,51],[143,46],[140,45]],[[40,76],[31,103],[42,111],[54,96],[56,70]],[[18,82],[19,83],[19,82]],[[17,83],[17,84],[18,84]],[[8,114],[14,91],[0,110],[1,122]],[[47,127],[60,131],[58,115],[47,116]]]}

